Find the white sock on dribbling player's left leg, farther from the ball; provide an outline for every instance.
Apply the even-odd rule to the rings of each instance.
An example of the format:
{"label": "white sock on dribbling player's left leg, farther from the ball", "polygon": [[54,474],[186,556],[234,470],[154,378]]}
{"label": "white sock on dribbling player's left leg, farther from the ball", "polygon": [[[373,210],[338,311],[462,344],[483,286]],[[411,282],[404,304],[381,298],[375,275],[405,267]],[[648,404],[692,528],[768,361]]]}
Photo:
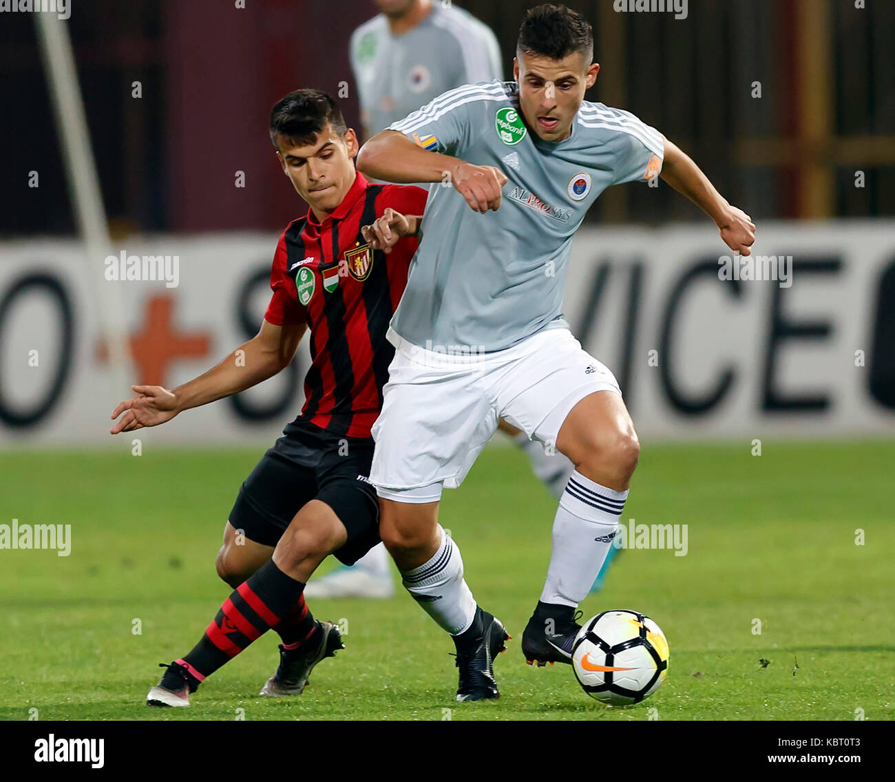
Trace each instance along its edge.
{"label": "white sock on dribbling player's left leg, farther from the ball", "polygon": [[475,618],[475,598],[463,578],[463,559],[456,543],[439,524],[441,545],[424,565],[401,571],[405,589],[422,609],[451,635],[463,633]]}

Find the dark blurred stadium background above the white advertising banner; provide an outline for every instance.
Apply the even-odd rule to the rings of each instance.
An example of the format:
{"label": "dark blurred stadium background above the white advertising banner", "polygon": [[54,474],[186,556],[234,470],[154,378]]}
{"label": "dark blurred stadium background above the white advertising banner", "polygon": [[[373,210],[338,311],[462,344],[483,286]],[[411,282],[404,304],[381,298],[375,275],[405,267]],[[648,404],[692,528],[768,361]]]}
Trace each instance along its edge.
{"label": "dark blurred stadium background above the white advertising banner", "polygon": [[[290,89],[337,93],[358,126],[347,42],[370,0],[74,0],[69,21],[113,235],[278,229],[299,213],[266,138]],[[511,75],[518,0],[457,3],[490,25]],[[694,153],[755,218],[895,214],[895,3],[689,0],[688,18],[568,5],[592,21],[601,64],[589,99],[633,111]],[[40,160],[39,189],[0,191],[0,234],[71,234],[72,207],[29,14],[0,20],[4,178]],[[132,81],[143,98],[130,98]],[[754,81],[762,98],[751,97]],[[48,164],[48,165],[47,165]],[[865,187],[854,187],[856,169]],[[234,190],[233,171],[261,188]],[[226,184],[226,186],[222,186]],[[669,189],[658,200],[607,192],[595,222],[697,219]]]}

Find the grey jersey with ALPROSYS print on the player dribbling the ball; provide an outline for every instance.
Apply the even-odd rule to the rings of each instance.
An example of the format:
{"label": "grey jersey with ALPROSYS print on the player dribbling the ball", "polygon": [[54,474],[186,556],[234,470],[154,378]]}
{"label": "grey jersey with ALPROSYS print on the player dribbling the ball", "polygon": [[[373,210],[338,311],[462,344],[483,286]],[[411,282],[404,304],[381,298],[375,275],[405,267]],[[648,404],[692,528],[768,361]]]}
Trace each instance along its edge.
{"label": "grey jersey with ALPROSYS print on the player dribbling the ball", "polygon": [[[560,317],[572,236],[612,184],[661,171],[661,133],[584,101],[571,136],[544,141],[519,112],[515,81],[450,90],[390,130],[424,149],[507,174],[498,211],[473,212],[434,184],[391,327],[430,349],[502,350]],[[555,324],[554,324],[555,325]]]}

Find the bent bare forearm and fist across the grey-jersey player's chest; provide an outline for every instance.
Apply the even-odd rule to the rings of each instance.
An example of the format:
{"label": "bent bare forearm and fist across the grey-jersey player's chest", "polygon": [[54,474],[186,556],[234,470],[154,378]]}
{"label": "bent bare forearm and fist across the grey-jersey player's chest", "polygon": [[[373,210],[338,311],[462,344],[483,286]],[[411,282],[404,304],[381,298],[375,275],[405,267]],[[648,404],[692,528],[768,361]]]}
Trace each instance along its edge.
{"label": "bent bare forearm and fist across the grey-jersey player's chest", "polygon": [[450,182],[470,208],[484,214],[500,208],[507,175],[495,166],[473,166],[459,157],[422,149],[398,131],[383,131],[357,154],[357,170],[395,183]]}

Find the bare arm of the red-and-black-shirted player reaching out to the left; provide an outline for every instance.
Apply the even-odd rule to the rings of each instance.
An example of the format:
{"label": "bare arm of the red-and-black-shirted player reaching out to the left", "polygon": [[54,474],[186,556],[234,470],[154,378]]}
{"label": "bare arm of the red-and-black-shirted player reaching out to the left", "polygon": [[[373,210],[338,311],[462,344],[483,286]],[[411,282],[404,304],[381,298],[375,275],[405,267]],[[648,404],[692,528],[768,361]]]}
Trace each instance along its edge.
{"label": "bare arm of the red-and-black-shirted player reaching out to the left", "polygon": [[[132,386],[139,394],[119,404],[112,420],[121,419],[110,434],[129,432],[170,421],[178,412],[238,394],[273,377],[292,361],[307,325],[277,326],[265,320],[258,334],[217,366],[173,391],[161,386]],[[124,413],[124,415],[122,415]]]}

